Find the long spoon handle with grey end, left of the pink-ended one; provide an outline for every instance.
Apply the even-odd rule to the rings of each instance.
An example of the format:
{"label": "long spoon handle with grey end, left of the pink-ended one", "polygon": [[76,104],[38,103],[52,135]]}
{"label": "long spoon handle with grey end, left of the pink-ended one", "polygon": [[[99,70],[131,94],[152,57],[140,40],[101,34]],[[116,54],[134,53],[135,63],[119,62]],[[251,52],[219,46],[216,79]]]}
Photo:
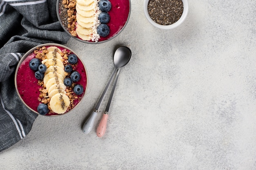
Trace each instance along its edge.
{"label": "long spoon handle with grey end, left of the pink-ended one", "polygon": [[88,118],[88,120],[86,120],[85,124],[83,125],[83,128],[82,128],[83,133],[88,134],[92,130],[92,126],[93,126],[94,120],[95,120],[95,118],[97,116],[98,109],[99,109],[99,107],[101,105],[101,102],[102,102],[102,100],[103,100],[103,98],[104,98],[104,96],[105,96],[105,94],[106,94],[106,92],[108,90],[108,87],[109,87],[109,85],[110,85],[110,83],[111,83],[111,81],[113,79],[113,76],[114,76],[115,72],[117,72],[116,68],[115,68],[114,72],[112,73],[112,76],[110,77],[110,79],[108,81],[108,84],[106,85],[103,93],[101,94],[101,97],[100,97],[100,99],[99,99],[99,101],[98,101],[94,111],[92,112],[91,116]]}

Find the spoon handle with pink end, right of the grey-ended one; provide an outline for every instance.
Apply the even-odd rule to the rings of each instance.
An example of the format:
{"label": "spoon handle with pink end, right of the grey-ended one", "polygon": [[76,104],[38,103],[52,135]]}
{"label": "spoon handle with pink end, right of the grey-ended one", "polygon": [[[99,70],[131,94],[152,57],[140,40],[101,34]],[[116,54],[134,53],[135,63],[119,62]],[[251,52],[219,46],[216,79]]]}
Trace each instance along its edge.
{"label": "spoon handle with pink end, right of the grey-ended one", "polygon": [[115,78],[114,85],[112,87],[110,96],[108,98],[108,104],[106,106],[105,113],[103,114],[103,116],[101,118],[101,122],[99,123],[99,126],[97,128],[97,136],[98,137],[102,137],[105,134],[105,132],[106,132],[107,121],[108,121],[108,111],[109,111],[109,108],[110,108],[110,104],[111,104],[111,101],[112,101],[113,94],[115,92],[115,87],[117,85],[117,79],[118,79],[120,71],[121,71],[121,68],[119,68],[118,71],[117,71],[117,76]]}

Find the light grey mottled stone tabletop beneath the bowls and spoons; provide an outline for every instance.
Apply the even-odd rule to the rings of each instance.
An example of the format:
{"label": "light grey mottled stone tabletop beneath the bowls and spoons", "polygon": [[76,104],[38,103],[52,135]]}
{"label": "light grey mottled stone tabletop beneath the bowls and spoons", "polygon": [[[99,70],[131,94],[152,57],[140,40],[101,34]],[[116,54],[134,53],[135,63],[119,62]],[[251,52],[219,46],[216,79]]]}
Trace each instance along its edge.
{"label": "light grey mottled stone tabletop beneath the bowls and spoons", "polygon": [[[39,116],[0,153],[3,169],[256,169],[256,3],[189,0],[182,25],[159,30],[131,0],[124,31],[104,44],[70,39],[88,70],[72,113]],[[106,134],[81,127],[113,71],[116,46],[132,50],[110,107]]]}

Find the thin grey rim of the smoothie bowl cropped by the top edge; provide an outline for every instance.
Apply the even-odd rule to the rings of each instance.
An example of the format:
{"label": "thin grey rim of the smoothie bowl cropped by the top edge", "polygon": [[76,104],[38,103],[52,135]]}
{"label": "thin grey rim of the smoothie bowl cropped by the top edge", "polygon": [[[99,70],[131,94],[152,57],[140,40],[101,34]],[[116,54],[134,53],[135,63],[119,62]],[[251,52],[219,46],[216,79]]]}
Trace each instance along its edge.
{"label": "thin grey rim of the smoothie bowl cropped by the top edge", "polygon": [[59,14],[59,3],[60,3],[60,0],[57,0],[57,2],[56,2],[56,13],[57,13],[57,17],[58,17],[58,22],[60,22],[61,27],[64,29],[64,31],[65,31],[68,35],[70,35],[70,37],[72,37],[72,38],[74,38],[74,39],[76,39],[76,40],[78,40],[78,41],[80,41],[80,42],[86,43],[86,44],[101,44],[101,43],[104,43],[104,42],[108,42],[108,41],[114,39],[115,37],[117,37],[117,35],[119,35],[119,34],[124,30],[124,28],[126,27],[128,21],[129,21],[129,18],[130,18],[130,13],[131,13],[131,1],[129,0],[129,7],[130,7],[130,9],[129,9],[129,13],[128,13],[128,17],[127,17],[126,23],[124,24],[123,28],[121,28],[121,30],[120,30],[117,34],[115,34],[113,37],[111,37],[111,38],[109,38],[109,39],[106,39],[106,40],[104,40],[104,41],[98,41],[98,42],[90,42],[90,41],[85,41],[85,40],[82,40],[82,39],[79,39],[79,38],[77,38],[77,37],[72,36],[72,35],[70,34],[70,32],[67,31],[67,29],[65,28],[65,26],[63,26],[63,24],[62,24],[62,22],[61,22],[61,17],[60,17],[60,14]]}

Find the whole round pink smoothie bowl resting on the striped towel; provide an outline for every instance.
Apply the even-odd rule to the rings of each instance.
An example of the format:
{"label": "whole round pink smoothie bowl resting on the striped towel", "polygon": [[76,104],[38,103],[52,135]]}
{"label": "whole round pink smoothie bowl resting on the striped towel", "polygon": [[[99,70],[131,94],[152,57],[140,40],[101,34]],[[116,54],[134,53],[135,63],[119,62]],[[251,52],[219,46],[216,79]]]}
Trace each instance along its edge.
{"label": "whole round pink smoothie bowl resting on the striped towel", "polygon": [[73,110],[85,95],[88,76],[79,56],[60,44],[42,44],[29,50],[15,72],[22,102],[44,116]]}

